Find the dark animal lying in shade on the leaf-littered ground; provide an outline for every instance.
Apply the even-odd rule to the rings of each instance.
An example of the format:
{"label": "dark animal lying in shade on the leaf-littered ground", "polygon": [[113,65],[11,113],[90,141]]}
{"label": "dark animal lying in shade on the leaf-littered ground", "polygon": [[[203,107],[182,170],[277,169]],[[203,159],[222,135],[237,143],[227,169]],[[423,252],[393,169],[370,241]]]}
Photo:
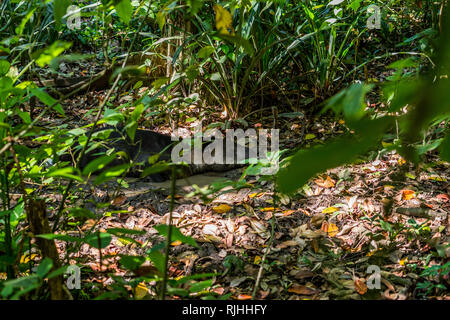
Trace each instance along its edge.
{"label": "dark animal lying in shade on the leaf-littered ground", "polygon": [[[109,155],[110,161],[107,165],[103,166],[101,170],[97,170],[95,173],[100,173],[105,169],[112,168],[114,166],[132,164],[126,176],[128,177],[142,177],[145,169],[150,168],[157,161],[171,162],[174,154],[180,159],[184,159],[184,165],[178,166],[178,176],[185,177],[193,174],[208,172],[208,171],[227,171],[243,166],[245,159],[249,159],[250,151],[247,147],[240,149],[242,156],[236,157],[236,151],[239,150],[237,142],[233,142],[235,148],[233,148],[233,161],[227,161],[225,147],[226,144],[222,144],[222,152],[218,155],[219,161],[201,161],[195,162],[195,151],[189,155],[183,154],[183,151],[190,149],[190,140],[188,143],[182,140],[178,145],[178,141],[173,141],[169,135],[164,135],[158,132],[136,129],[134,133],[134,139],[131,139],[127,134],[127,131],[123,127],[108,126],[105,128],[99,128],[95,130],[93,135],[93,141],[90,146],[86,148],[84,156],[80,159],[78,168],[83,170],[93,160],[98,159],[101,156]],[[177,147],[178,146],[178,147]],[[181,146],[181,147],[180,147]],[[211,149],[211,142],[201,145],[201,153],[209,148]],[[188,149],[187,149],[187,148]],[[63,154],[60,157],[62,161],[74,161],[77,159],[78,154],[82,148],[82,145],[75,143],[70,152]],[[177,148],[177,149],[175,149]],[[175,150],[174,150],[175,149]],[[178,151],[180,150],[180,151]],[[212,153],[214,156],[214,151]],[[223,161],[220,161],[221,160]],[[161,182],[170,179],[170,172],[168,170],[153,172],[145,177],[147,180],[154,182]]]}

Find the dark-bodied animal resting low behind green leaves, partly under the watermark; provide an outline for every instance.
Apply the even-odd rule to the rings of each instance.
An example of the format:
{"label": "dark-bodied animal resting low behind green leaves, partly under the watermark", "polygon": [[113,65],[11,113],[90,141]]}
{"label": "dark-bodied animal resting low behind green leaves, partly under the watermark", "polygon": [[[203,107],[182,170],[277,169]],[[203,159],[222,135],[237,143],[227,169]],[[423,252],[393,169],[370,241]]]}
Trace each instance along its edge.
{"label": "dark-bodied animal resting low behind green leaves, partly under the watermark", "polygon": [[[109,132],[109,135],[108,135]],[[102,140],[102,134],[108,135],[107,139]],[[96,148],[88,148],[88,152],[83,156],[80,161],[79,168],[82,170],[87,166],[88,163],[97,159],[98,157],[108,154],[126,154],[126,157],[116,156],[116,158],[105,166],[102,170],[111,168],[113,166],[130,163],[132,161],[134,164],[130,170],[127,171],[126,176],[139,178],[142,176],[143,171],[150,167],[152,164],[149,163],[149,158],[159,155],[158,161],[170,162],[172,148],[177,144],[176,141],[172,141],[172,138],[168,135],[164,135],[158,132],[150,130],[136,129],[134,140],[131,140],[126,131],[123,128],[106,127],[96,130],[94,136],[100,134],[100,142],[96,142],[98,145]],[[96,141],[96,139],[93,139]],[[95,142],[94,142],[95,143]],[[204,146],[205,147],[205,146]],[[80,145],[74,146],[76,158]],[[224,152],[225,154],[225,152]],[[249,151],[245,148],[245,158],[248,158]],[[70,161],[72,157],[68,154],[64,155],[61,160]],[[178,167],[178,177],[186,177],[194,174],[204,173],[204,172],[221,172],[228,171],[235,168],[242,167],[242,164],[188,164],[180,165]],[[147,177],[146,180],[153,182],[161,182],[170,179],[170,172],[163,171],[159,173],[153,173]]]}

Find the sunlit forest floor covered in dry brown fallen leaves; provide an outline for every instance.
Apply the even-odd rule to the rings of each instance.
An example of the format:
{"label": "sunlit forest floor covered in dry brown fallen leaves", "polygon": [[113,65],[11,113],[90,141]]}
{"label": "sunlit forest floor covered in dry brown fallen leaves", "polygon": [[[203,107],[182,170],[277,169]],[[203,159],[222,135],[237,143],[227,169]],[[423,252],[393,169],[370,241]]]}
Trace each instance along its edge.
{"label": "sunlit forest floor covered in dry brown fallen leaves", "polygon": [[[70,126],[92,121],[91,106],[104,95],[89,92],[67,101]],[[127,99],[132,97],[120,98]],[[214,117],[219,119],[220,114]],[[53,116],[43,119],[46,122],[68,123]],[[329,115],[280,120],[278,127],[281,149],[323,143],[348,130]],[[170,133],[168,126],[146,129]],[[450,298],[448,290],[435,286],[439,270],[430,273],[431,280],[423,274],[433,271],[425,264],[443,266],[450,256],[448,163],[428,154],[424,165],[413,167],[395,152],[372,154],[329,170],[279,203],[274,203],[274,182],[258,176],[246,176],[240,188],[217,191],[210,187],[218,179],[239,179],[243,170],[177,180],[173,224],[199,247],[172,243],[170,277],[215,273],[211,290],[217,297],[231,294],[240,300],[251,298],[260,268],[258,299]],[[135,243],[113,236],[101,258],[87,244],[66,256],[66,243],[58,242],[61,257],[84,265],[82,281],[104,289],[111,289],[111,274],[131,279],[157,272],[144,264],[130,273],[119,260],[121,255],[140,255],[164,241],[153,227],[168,222],[169,185],[125,179],[122,185],[108,183],[79,191],[79,201],[88,208],[111,204],[97,209],[102,218],[96,230],[128,228],[145,234],[134,236]],[[50,190],[46,196],[57,208],[61,195]],[[94,223],[86,220],[67,233],[82,234]],[[374,270],[381,274],[379,287],[373,281]],[[448,284],[448,278],[444,282]],[[368,283],[375,289],[368,288]],[[154,294],[154,288],[147,289],[142,297]]]}

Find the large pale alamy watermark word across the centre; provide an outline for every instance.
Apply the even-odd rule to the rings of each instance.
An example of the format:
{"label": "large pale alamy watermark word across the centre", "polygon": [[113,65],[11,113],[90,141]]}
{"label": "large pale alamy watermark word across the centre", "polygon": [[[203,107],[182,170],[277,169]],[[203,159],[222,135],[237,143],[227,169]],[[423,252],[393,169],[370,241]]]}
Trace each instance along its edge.
{"label": "large pale alamy watermark word across the centre", "polygon": [[[268,138],[270,135],[270,150]],[[172,141],[179,141],[180,134],[172,135]],[[203,147],[203,143],[207,145]],[[248,142],[248,146],[246,143]],[[279,130],[278,129],[227,129],[224,134],[218,129],[203,132],[200,122],[194,135],[184,137],[172,148],[173,163],[187,164],[257,164],[268,165],[262,175],[273,175],[278,171]]]}

